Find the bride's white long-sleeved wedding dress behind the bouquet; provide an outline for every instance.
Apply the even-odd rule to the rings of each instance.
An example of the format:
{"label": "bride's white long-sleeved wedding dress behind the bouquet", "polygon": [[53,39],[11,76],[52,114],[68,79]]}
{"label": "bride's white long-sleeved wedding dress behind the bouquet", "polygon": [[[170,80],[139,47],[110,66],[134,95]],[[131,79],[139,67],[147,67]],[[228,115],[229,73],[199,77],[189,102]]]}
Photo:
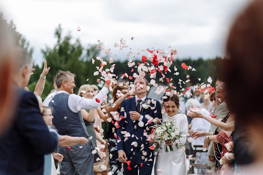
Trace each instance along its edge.
{"label": "bride's white long-sleeved wedding dress behind the bouquet", "polygon": [[[172,117],[167,115],[167,113],[162,115],[162,122],[173,121],[177,125],[178,131],[183,132],[181,134],[182,138],[179,139],[178,149],[175,144],[172,146],[174,150],[171,152],[169,146],[167,146],[169,152],[165,153],[165,141],[162,142],[161,148],[158,149],[155,158],[154,174],[155,175],[186,175],[187,174],[187,163],[186,154],[184,152],[183,146],[186,142],[186,135],[188,133],[188,121],[186,115],[177,114]],[[157,169],[160,169],[157,171]],[[162,173],[161,173],[162,172]]]}

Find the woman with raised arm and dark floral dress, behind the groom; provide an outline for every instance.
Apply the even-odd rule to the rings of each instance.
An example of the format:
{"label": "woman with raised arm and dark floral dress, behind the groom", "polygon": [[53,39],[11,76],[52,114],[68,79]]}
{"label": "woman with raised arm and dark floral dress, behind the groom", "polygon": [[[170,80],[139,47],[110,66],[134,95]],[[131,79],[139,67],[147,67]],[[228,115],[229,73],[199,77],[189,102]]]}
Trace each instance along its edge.
{"label": "woman with raised arm and dark floral dress, behind the groom", "polygon": [[108,152],[110,160],[111,174],[122,175],[122,162],[119,160],[117,152],[117,129],[120,127],[118,124],[120,106],[122,101],[129,97],[129,86],[125,83],[118,83],[112,91],[113,104],[107,108],[109,128],[107,133],[108,139]]}

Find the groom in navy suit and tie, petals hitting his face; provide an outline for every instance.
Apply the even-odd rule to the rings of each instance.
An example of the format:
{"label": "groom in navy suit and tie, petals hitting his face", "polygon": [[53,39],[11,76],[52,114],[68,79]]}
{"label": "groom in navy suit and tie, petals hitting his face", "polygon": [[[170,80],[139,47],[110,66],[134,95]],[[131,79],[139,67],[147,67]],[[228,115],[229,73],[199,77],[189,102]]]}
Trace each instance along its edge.
{"label": "groom in navy suit and tie, petals hitting his face", "polygon": [[[148,81],[145,78],[136,78],[134,85],[135,97],[124,100],[121,104],[120,118],[121,116],[124,118],[119,121],[120,128],[117,130],[117,150],[120,161],[124,163],[125,175],[138,174],[138,169],[140,175],[150,175],[153,169],[154,153],[149,148],[150,144],[146,141],[147,137],[143,133],[147,132],[149,135],[152,130],[149,127],[154,125],[153,122],[148,121],[149,116],[162,118],[161,106],[159,101],[154,100],[153,103],[150,102],[150,107],[143,108],[142,104],[152,100],[146,97]],[[126,118],[124,113],[126,113]],[[139,122],[142,127],[139,126]]]}

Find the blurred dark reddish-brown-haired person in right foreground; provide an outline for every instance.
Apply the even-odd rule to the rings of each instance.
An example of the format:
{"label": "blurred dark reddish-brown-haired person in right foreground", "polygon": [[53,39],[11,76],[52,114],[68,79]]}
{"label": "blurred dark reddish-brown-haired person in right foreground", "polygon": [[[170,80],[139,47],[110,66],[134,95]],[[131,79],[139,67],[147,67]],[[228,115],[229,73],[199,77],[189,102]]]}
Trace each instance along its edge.
{"label": "blurred dark reddish-brown-haired person in right foreground", "polygon": [[[245,174],[263,172],[263,1],[253,1],[236,19],[226,46],[227,102],[236,113],[235,159]],[[243,95],[247,93],[246,95]]]}

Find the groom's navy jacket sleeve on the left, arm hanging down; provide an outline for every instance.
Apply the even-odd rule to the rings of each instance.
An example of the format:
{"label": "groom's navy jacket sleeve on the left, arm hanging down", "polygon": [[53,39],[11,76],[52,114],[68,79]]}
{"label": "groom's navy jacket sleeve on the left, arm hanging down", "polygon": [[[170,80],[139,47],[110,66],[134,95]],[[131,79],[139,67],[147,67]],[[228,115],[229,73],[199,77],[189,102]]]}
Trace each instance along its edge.
{"label": "groom's navy jacket sleeve on the left, arm hanging down", "polygon": [[[125,101],[122,101],[122,104],[121,104],[121,107],[120,108],[124,108],[124,110],[126,110],[125,108]],[[124,116],[124,111],[121,111],[120,112],[120,116]],[[123,118],[122,120],[119,121],[119,125],[120,127],[117,129],[117,139],[119,140],[119,137],[121,139],[121,141],[119,143],[117,143],[117,151],[119,152],[119,150],[124,150],[124,136],[123,134],[121,133],[121,131],[125,131],[125,118]],[[124,128],[124,129],[123,129]]]}

